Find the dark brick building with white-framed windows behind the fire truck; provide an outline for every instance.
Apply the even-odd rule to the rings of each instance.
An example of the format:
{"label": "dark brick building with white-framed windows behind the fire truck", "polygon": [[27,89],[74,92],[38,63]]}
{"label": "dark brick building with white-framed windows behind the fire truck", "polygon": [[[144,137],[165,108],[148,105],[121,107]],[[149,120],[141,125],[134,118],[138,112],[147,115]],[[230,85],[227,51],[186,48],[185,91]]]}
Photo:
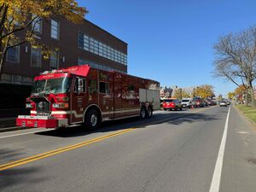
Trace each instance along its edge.
{"label": "dark brick building with white-framed windows behind the fire truck", "polygon": [[38,42],[55,54],[44,60],[41,49],[30,44],[9,49],[0,82],[0,109],[22,108],[33,78],[45,70],[86,63],[127,73],[127,44],[88,20],[73,24],[61,17],[44,19],[36,23],[35,31]]}

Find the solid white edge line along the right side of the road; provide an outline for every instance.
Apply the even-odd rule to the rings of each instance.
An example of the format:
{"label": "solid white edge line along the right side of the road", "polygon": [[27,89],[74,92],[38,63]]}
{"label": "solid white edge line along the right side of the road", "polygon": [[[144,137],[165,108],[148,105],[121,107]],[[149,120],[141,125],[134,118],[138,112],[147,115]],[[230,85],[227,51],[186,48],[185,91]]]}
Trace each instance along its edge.
{"label": "solid white edge line along the right side of the road", "polygon": [[230,108],[229,108],[229,112],[228,112],[227,119],[225,122],[224,133],[223,133],[223,137],[222,137],[222,140],[220,143],[220,147],[219,147],[219,151],[218,151],[218,158],[217,158],[215,169],[213,172],[212,183],[211,183],[211,188],[210,188],[209,192],[218,192],[219,191],[223,159],[224,159],[224,149],[225,149],[228,127],[229,127],[229,119],[230,119]]}

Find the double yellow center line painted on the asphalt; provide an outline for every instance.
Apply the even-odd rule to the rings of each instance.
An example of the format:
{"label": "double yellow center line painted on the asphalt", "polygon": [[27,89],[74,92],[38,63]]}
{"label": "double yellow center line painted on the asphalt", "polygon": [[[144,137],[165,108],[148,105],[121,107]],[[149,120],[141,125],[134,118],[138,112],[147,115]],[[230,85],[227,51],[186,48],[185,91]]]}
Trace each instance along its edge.
{"label": "double yellow center line painted on the asphalt", "polygon": [[21,165],[30,163],[30,162],[35,161],[35,160],[41,160],[41,159],[47,158],[49,156],[53,156],[55,154],[61,154],[63,152],[66,152],[66,151],[69,151],[69,150],[72,150],[72,149],[75,149],[75,148],[81,148],[81,147],[84,147],[85,145],[100,142],[100,141],[108,139],[110,137],[116,137],[116,136],[122,135],[126,132],[133,131],[135,129],[136,128],[129,128],[129,129],[125,129],[123,131],[117,131],[117,132],[114,132],[112,134],[108,134],[107,136],[96,137],[94,139],[91,139],[89,141],[85,141],[85,142],[82,142],[82,143],[69,145],[69,146],[64,147],[64,148],[58,148],[58,149],[55,149],[55,150],[52,150],[52,151],[45,152],[43,154],[36,154],[36,155],[33,155],[31,157],[27,157],[27,158],[24,158],[24,159],[21,159],[21,160],[15,160],[15,161],[9,162],[7,164],[0,165],[0,171],[9,169],[9,168],[12,168],[12,167],[15,167],[15,166],[21,166]]}

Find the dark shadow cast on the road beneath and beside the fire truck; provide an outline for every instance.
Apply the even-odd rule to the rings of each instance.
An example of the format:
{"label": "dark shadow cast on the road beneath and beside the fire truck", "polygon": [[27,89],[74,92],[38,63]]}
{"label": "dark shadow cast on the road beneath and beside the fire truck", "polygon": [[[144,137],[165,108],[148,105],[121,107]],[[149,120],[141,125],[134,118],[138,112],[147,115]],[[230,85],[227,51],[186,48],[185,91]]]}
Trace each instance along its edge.
{"label": "dark shadow cast on the road beneath and beside the fire truck", "polygon": [[186,113],[185,111],[175,111],[166,113],[156,113],[150,119],[127,118],[103,122],[96,131],[86,131],[83,126],[64,128],[61,130],[51,130],[35,133],[39,136],[49,137],[79,137],[89,135],[95,132],[121,131],[128,128],[142,129],[148,125],[160,125],[168,123],[171,125],[180,125],[182,123],[194,123],[197,121],[217,120],[216,116],[206,113]]}

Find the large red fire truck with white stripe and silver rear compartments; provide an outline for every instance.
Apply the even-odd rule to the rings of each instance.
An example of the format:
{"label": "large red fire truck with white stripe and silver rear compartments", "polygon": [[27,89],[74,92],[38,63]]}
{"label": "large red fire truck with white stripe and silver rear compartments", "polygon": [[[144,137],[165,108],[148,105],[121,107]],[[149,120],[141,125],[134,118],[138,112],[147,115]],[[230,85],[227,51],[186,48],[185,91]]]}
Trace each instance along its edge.
{"label": "large red fire truck with white stripe and silver rear compartments", "polygon": [[93,130],[105,120],[149,118],[160,108],[159,82],[89,65],[46,71],[34,81],[32,95],[26,99],[31,114],[19,115],[18,126],[83,124]]}

